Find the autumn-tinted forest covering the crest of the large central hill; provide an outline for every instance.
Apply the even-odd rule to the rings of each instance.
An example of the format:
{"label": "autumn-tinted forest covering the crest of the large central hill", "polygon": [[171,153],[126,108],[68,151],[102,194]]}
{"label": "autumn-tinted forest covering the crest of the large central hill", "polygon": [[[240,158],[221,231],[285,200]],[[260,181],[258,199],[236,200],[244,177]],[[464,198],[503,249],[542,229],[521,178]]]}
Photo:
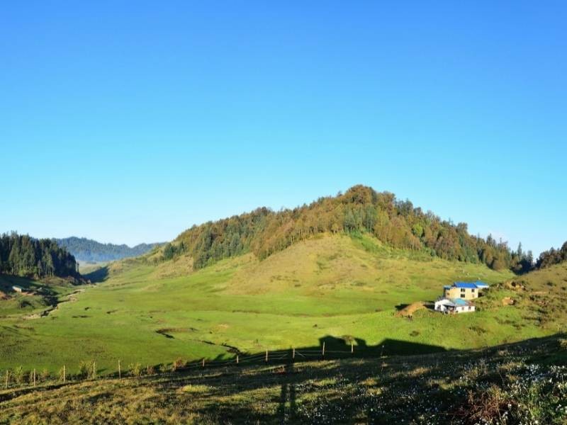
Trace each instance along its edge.
{"label": "autumn-tinted forest covering the crest of the large central hill", "polygon": [[325,232],[368,232],[390,246],[427,251],[442,259],[485,263],[495,270],[532,267],[529,252],[512,251],[506,242],[490,236],[472,236],[466,223],[455,225],[416,208],[409,200],[397,200],[393,193],[379,193],[367,186],[354,186],[344,194],[319,198],[293,210],[258,208],[193,226],[164,246],[164,258],[189,253],[195,268],[248,251],[263,259]]}

